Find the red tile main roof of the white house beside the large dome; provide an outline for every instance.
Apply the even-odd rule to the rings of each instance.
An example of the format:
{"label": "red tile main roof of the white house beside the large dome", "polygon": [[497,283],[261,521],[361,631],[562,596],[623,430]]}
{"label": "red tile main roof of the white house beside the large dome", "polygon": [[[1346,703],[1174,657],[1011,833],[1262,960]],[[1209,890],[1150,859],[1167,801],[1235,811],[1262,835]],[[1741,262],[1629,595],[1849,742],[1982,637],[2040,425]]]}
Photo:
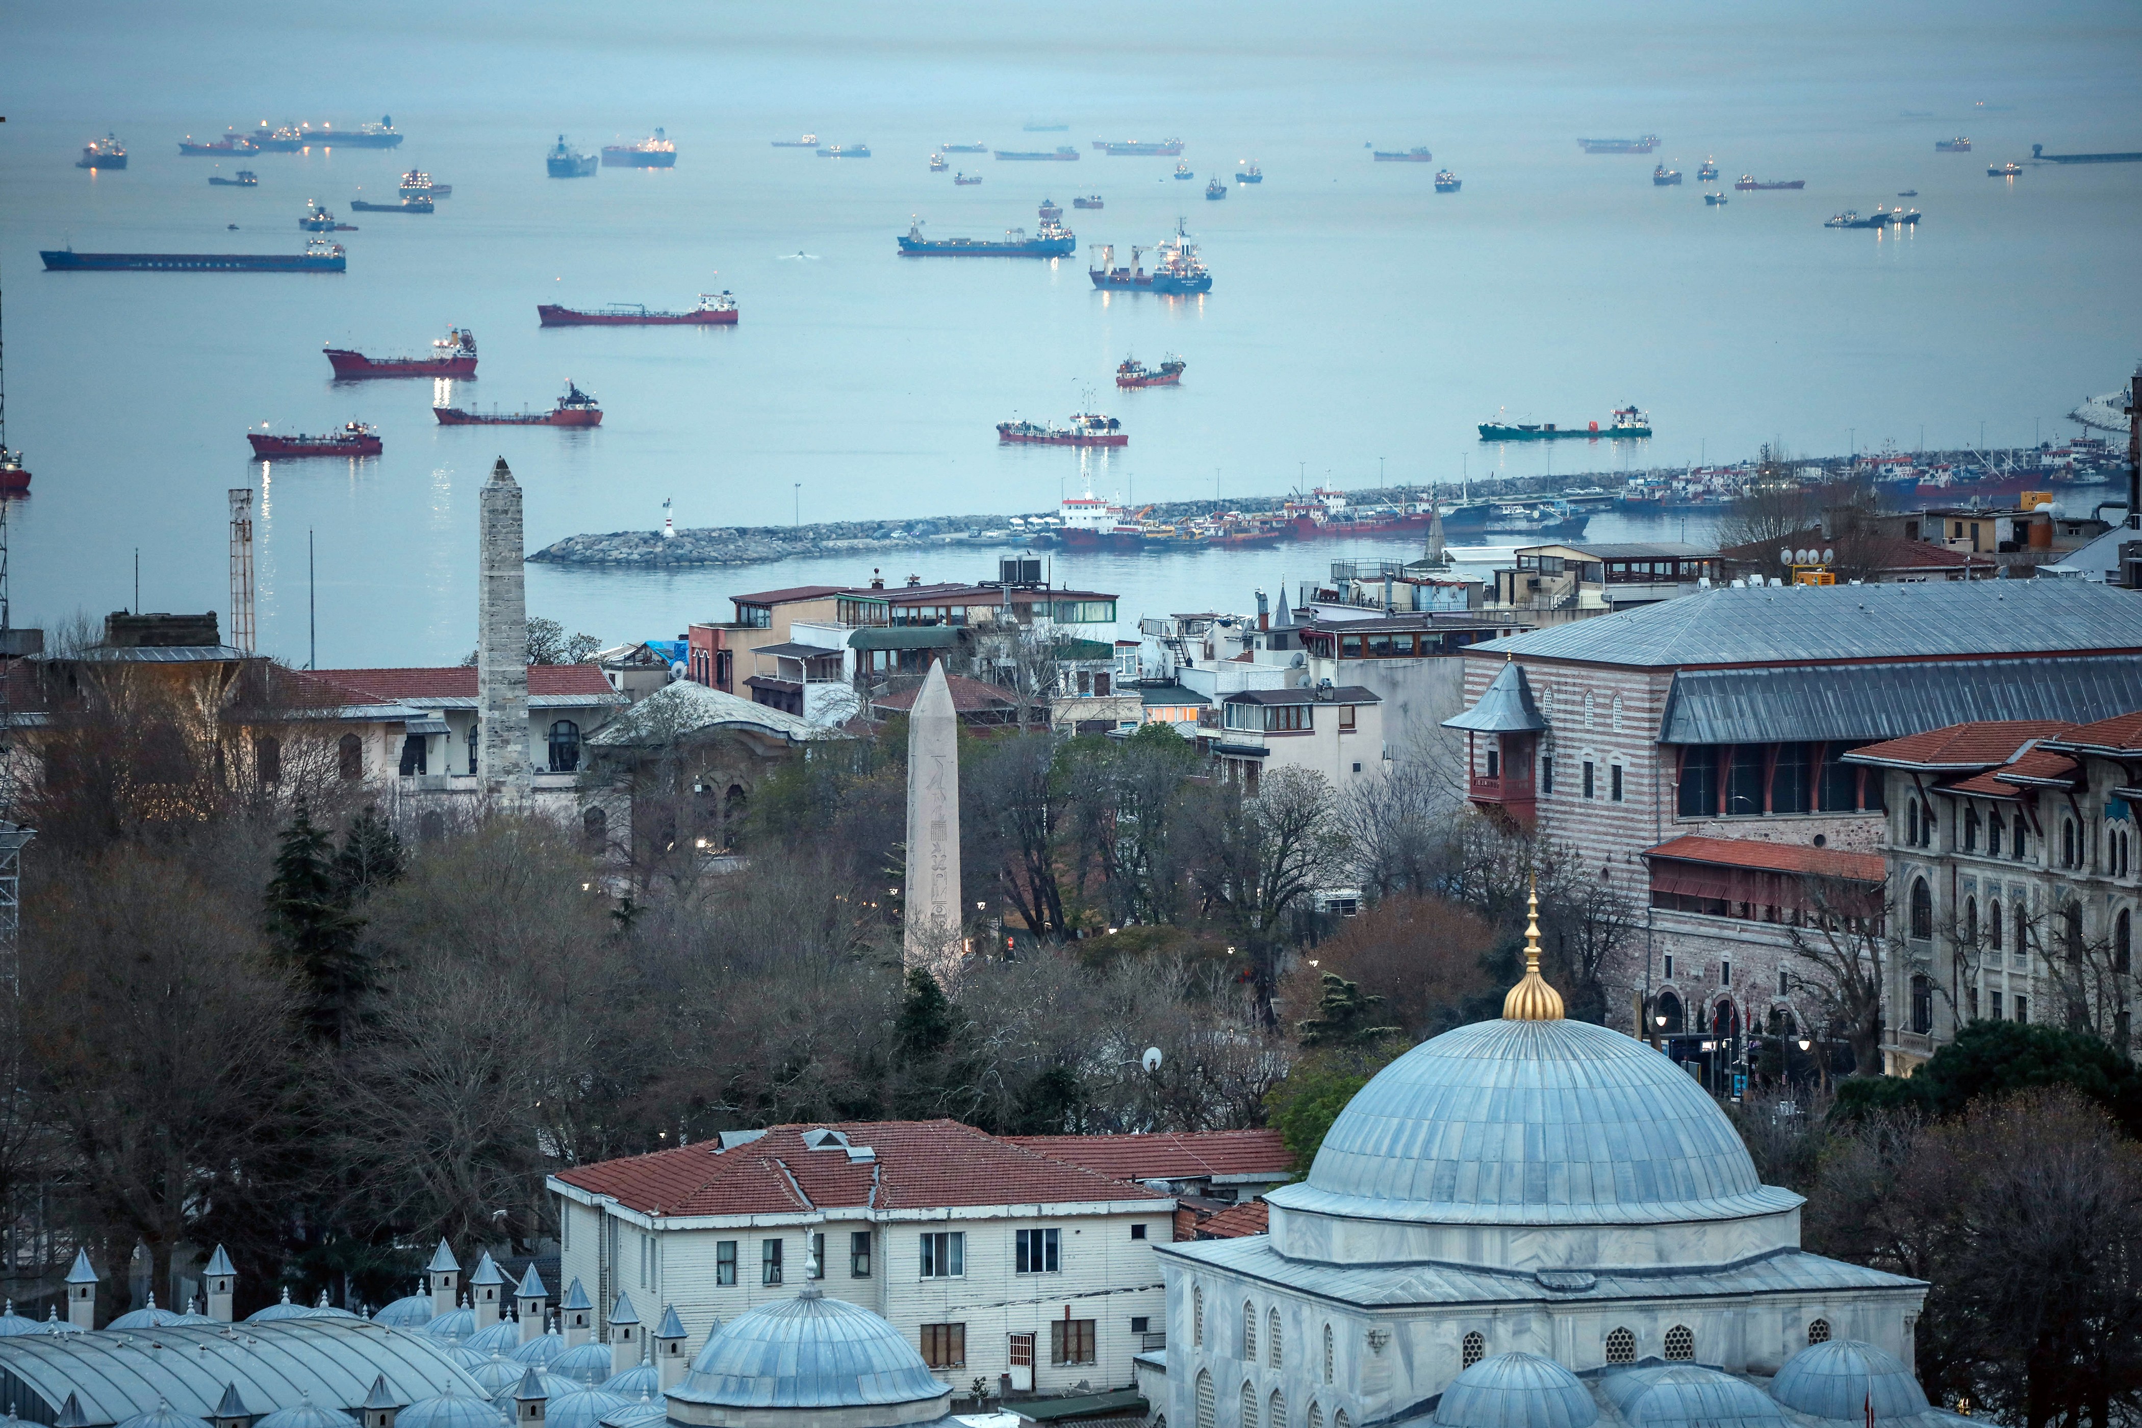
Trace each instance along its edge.
{"label": "red tile main roof of the white house beside the large dome", "polygon": [[[876,1160],[838,1145],[808,1150],[803,1135],[842,1130]],[[557,1180],[643,1214],[786,1214],[825,1205],[942,1210],[1069,1201],[1150,1201],[1152,1190],[1026,1150],[955,1120],[880,1120],[775,1126],[756,1141],[658,1150],[559,1171]]]}

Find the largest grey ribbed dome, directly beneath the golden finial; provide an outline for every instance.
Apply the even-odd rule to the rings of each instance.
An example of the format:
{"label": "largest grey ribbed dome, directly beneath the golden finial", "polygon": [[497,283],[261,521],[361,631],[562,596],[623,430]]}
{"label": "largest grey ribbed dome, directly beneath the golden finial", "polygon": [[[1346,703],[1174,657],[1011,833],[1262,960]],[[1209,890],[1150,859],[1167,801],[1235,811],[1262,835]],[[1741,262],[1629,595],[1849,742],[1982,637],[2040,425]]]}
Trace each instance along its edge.
{"label": "largest grey ribbed dome, directly beneath the golden finial", "polygon": [[1671,1225],[1793,1210],[1724,1111],[1641,1040],[1476,1021],[1375,1075],[1289,1210],[1442,1225]]}

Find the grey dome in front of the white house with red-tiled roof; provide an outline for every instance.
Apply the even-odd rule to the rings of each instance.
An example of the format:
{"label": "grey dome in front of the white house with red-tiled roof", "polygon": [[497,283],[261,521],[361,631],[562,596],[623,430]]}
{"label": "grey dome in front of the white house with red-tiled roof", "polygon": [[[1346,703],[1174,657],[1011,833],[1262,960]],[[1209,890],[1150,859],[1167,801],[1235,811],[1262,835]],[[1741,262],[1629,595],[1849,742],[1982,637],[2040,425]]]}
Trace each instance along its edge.
{"label": "grey dome in front of the white house with red-tiled roof", "polygon": [[949,1400],[951,1385],[878,1315],[805,1291],[715,1330],[668,1396],[730,1409],[844,1409]]}

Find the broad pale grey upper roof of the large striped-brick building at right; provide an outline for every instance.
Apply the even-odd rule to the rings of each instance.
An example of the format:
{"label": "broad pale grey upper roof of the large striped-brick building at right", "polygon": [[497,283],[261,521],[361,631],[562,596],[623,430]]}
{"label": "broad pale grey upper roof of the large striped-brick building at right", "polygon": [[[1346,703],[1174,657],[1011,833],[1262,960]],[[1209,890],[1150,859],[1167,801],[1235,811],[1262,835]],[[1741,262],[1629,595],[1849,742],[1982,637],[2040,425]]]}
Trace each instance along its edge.
{"label": "broad pale grey upper roof of the large striped-brick building at right", "polygon": [[1711,589],[1469,653],[1641,668],[2142,651],[2142,599],[2082,580]]}

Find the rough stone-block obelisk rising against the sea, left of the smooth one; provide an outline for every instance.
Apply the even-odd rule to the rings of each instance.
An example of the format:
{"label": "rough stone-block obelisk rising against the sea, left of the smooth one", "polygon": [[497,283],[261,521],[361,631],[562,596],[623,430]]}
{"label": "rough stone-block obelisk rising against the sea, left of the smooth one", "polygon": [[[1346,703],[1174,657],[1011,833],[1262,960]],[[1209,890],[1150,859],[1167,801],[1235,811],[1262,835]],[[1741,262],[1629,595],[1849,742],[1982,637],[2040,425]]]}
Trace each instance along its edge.
{"label": "rough stone-block obelisk rising against the sea, left of the smooth one", "polygon": [[478,788],[493,799],[529,799],[529,612],[521,542],[521,486],[506,458],[478,497],[476,567],[476,745]]}

